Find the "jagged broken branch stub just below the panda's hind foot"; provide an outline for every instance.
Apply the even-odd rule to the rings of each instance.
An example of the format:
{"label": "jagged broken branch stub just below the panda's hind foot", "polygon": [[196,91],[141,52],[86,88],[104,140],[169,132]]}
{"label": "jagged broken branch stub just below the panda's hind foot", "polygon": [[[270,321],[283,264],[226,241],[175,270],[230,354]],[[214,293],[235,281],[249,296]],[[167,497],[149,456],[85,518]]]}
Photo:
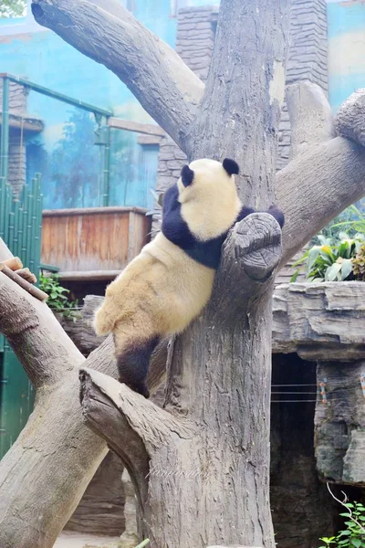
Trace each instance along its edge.
{"label": "jagged broken branch stub just below the panda's hind foot", "polygon": [[[137,434],[145,450],[151,457],[156,448],[168,445],[170,437],[191,437],[193,429],[189,423],[181,418],[175,418],[171,413],[164,411],[139,394],[136,394],[126,385],[121,385],[106,374],[92,369],[81,369],[79,374],[81,383],[80,399],[85,422],[90,424],[101,437],[116,448],[118,454],[127,462],[135,455],[130,453],[130,437]],[[109,406],[114,407],[114,413],[120,414],[120,421],[115,432],[109,435],[105,430],[104,406],[98,408],[96,402],[100,394],[107,396]],[[105,398],[103,398],[103,401]],[[108,409],[108,414],[111,411]],[[108,421],[109,422],[109,421]],[[141,449],[141,448],[140,448]]]}

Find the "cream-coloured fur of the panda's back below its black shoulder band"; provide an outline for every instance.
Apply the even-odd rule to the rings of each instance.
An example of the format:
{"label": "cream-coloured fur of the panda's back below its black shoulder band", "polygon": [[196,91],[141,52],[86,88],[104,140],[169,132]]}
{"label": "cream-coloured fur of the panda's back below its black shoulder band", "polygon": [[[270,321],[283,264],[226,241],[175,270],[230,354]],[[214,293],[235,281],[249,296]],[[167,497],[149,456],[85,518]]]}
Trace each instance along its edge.
{"label": "cream-coloured fur of the panda's back below its black shoulder band", "polygon": [[[120,319],[144,311],[159,334],[181,332],[209,300],[214,269],[190,258],[160,233],[107,290]],[[114,287],[113,287],[114,286]]]}

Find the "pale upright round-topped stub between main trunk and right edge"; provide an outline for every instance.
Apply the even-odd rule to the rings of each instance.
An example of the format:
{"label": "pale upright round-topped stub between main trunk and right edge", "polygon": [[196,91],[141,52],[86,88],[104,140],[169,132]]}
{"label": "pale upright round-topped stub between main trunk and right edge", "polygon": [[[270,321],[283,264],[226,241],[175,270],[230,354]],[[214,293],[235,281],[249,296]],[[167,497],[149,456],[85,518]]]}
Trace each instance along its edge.
{"label": "pale upright round-topped stub between main trunk and right edge", "polygon": [[287,87],[287,111],[290,117],[290,158],[308,147],[336,137],[328,99],[318,84],[301,81]]}

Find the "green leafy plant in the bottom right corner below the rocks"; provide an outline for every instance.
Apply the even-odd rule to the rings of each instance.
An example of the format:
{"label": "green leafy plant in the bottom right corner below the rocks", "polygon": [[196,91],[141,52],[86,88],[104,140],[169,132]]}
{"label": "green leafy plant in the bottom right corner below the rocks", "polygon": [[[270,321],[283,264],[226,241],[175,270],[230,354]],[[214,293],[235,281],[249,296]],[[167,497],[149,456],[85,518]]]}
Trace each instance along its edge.
{"label": "green leafy plant in the bottom right corner below the rocks", "polygon": [[333,546],[334,548],[365,548],[365,506],[361,502],[349,502],[347,495],[342,491],[344,500],[339,501],[332,491],[328,491],[331,496],[338,501],[346,511],[339,515],[346,518],[344,522],[344,529],[338,532],[336,536],[322,537],[319,540],[325,543],[325,545],[319,548],[326,548],[327,546]]}

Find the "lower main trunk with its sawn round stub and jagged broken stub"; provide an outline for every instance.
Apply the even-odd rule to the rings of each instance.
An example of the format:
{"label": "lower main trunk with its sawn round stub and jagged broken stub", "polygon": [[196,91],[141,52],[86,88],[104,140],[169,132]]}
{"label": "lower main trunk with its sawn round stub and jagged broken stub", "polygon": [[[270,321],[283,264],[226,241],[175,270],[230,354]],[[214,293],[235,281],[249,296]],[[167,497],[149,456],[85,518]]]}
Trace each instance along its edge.
{"label": "lower main trunk with its sawn round stub and jagged broken stub", "polygon": [[[227,238],[212,303],[176,342],[165,410],[105,375],[89,369],[80,374],[84,416],[129,469],[141,536],[151,546],[274,546],[268,497],[269,289],[280,239],[275,219],[256,214]],[[235,289],[227,294],[232,279]]]}

